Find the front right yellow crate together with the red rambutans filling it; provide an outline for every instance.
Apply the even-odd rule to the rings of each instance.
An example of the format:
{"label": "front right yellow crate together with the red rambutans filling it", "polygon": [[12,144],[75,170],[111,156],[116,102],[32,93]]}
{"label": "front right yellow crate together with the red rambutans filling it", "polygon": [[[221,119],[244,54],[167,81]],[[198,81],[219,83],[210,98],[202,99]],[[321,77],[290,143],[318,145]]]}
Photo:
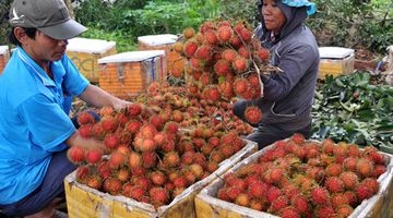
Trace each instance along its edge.
{"label": "front right yellow crate together with the red rambutans filling it", "polygon": [[295,134],[263,148],[195,197],[198,217],[390,217],[392,156]]}

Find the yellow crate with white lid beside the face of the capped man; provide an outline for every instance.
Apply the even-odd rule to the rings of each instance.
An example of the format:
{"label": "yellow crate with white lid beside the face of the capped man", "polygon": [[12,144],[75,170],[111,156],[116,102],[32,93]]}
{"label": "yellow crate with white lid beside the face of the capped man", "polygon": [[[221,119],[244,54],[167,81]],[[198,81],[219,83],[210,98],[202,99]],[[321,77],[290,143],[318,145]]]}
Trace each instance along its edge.
{"label": "yellow crate with white lid beside the face of the capped man", "polygon": [[72,38],[67,55],[91,82],[98,82],[98,59],[117,53],[116,43],[90,38]]}

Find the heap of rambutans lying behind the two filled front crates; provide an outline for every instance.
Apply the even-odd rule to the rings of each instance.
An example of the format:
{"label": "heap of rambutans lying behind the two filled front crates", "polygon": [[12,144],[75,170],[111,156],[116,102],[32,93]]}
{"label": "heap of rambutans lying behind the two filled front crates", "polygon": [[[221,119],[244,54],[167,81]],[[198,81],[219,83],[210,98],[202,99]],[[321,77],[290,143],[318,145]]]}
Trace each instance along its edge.
{"label": "heap of rambutans lying behind the two filled front crates", "polygon": [[[194,130],[202,126],[215,132],[234,130],[239,135],[253,131],[250,124],[234,116],[231,102],[224,99],[206,100],[200,95],[187,93],[182,86],[154,82],[135,101],[154,108],[157,113],[170,114],[170,119],[178,122],[182,129]],[[258,111],[250,114],[253,116],[250,120],[258,119]]]}

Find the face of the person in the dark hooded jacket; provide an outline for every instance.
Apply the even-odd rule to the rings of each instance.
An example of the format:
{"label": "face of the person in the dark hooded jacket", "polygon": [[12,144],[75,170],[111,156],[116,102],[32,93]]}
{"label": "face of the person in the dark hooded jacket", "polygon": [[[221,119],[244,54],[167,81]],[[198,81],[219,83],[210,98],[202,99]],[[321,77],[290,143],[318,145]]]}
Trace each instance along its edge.
{"label": "face of the person in the dark hooded jacket", "polygon": [[262,15],[266,28],[278,35],[286,22],[286,17],[275,3],[275,0],[263,0]]}

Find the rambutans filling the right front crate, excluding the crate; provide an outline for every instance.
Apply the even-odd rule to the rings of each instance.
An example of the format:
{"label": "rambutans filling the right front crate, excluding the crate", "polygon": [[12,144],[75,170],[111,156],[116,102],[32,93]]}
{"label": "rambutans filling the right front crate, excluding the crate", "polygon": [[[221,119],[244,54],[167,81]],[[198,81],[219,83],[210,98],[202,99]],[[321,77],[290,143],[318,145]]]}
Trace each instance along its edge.
{"label": "rambutans filling the right front crate, excluding the crate", "polygon": [[224,175],[219,199],[282,217],[348,217],[379,192],[386,171],[377,148],[295,134]]}

